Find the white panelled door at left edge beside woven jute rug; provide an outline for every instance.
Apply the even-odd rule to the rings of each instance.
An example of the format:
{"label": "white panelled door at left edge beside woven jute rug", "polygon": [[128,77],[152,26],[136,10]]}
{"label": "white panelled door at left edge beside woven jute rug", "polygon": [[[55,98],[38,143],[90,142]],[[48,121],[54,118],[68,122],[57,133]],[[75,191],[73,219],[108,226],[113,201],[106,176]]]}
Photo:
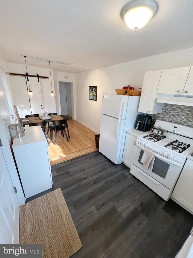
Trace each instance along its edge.
{"label": "white panelled door at left edge beside woven jute rug", "polygon": [[19,203],[0,147],[0,244],[19,243]]}

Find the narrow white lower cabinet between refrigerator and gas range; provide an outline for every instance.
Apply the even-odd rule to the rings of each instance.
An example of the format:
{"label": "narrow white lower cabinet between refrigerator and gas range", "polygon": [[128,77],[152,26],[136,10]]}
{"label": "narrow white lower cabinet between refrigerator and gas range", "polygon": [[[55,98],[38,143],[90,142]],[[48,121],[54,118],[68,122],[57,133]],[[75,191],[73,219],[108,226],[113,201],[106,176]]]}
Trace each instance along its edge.
{"label": "narrow white lower cabinet between refrigerator and gas range", "polygon": [[[142,133],[143,132],[141,132],[141,134]],[[134,136],[127,132],[126,138],[125,138],[125,145],[124,145],[122,161],[129,168],[131,168],[131,165],[132,165],[132,159],[133,159],[133,154],[134,154],[134,143],[136,140],[137,140],[137,136]]]}

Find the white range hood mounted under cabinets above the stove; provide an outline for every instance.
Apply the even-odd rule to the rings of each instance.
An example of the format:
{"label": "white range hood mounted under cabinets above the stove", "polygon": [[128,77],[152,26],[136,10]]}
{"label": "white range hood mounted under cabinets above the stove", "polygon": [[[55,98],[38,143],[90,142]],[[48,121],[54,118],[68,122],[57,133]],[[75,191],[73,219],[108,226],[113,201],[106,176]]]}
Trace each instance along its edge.
{"label": "white range hood mounted under cabinets above the stove", "polygon": [[182,106],[193,106],[193,95],[158,94],[156,102]]}

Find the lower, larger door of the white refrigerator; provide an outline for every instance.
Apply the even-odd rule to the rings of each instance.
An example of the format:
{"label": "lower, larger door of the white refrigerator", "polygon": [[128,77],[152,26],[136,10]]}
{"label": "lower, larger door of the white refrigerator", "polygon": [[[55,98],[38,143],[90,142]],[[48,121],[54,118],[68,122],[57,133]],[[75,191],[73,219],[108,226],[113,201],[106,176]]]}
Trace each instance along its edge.
{"label": "lower, larger door of the white refrigerator", "polygon": [[125,120],[118,120],[110,116],[101,116],[99,152],[109,158],[115,164],[119,162],[122,135]]}

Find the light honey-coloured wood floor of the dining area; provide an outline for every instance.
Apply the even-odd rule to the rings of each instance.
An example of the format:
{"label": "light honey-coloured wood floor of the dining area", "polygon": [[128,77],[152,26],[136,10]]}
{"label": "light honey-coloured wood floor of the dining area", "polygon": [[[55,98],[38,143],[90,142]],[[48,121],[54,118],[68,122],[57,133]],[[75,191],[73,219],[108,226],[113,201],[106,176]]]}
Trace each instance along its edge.
{"label": "light honey-coloured wood floor of the dining area", "polygon": [[50,139],[50,133],[48,133],[51,165],[97,150],[95,147],[95,132],[72,119],[68,120],[68,129],[70,133],[69,142],[67,142],[65,136],[62,137],[61,133],[58,132],[57,145],[54,144],[55,132],[53,132],[52,140]]}

